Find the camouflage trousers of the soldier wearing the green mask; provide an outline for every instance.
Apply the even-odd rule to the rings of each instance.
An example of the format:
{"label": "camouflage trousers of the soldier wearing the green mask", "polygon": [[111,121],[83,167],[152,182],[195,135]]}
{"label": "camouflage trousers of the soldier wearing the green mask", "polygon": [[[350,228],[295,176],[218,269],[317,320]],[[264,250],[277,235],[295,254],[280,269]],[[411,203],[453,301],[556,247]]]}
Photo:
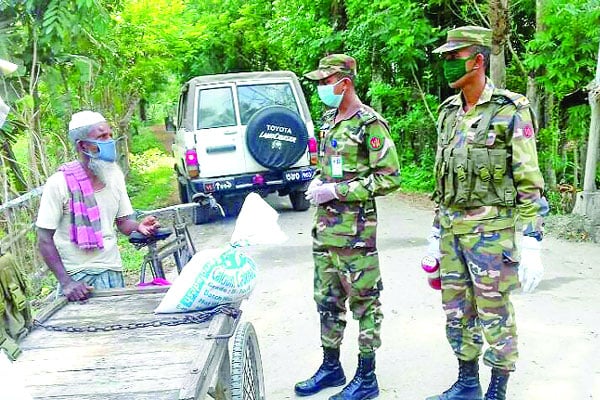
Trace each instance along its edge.
{"label": "camouflage trousers of the soldier wearing the green mask", "polygon": [[517,360],[517,327],[509,292],[519,287],[514,228],[455,235],[442,228],[440,250],[446,337],[456,356],[508,371]]}

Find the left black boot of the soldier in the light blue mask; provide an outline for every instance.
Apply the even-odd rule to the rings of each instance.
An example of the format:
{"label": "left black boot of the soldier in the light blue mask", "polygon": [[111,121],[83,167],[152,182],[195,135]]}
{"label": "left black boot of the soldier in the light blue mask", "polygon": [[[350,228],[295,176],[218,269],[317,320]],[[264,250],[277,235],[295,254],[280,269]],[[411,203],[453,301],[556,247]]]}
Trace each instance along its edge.
{"label": "left black boot of the soldier in the light blue mask", "polygon": [[323,364],[309,379],[296,383],[294,391],[298,396],[310,396],[321,390],[341,386],[346,383],[346,376],[340,364],[340,349],[323,347]]}

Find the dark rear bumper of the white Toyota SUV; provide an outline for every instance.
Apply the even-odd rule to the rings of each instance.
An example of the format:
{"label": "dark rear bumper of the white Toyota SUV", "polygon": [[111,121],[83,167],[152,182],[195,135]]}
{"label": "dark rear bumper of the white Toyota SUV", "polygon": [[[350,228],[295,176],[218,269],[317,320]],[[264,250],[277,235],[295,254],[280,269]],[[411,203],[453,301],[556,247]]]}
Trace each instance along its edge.
{"label": "dark rear bumper of the white Toyota SUV", "polygon": [[283,194],[303,190],[315,175],[314,166],[284,171],[264,171],[219,178],[197,178],[185,182],[194,193],[210,193],[217,197],[239,196],[251,192]]}

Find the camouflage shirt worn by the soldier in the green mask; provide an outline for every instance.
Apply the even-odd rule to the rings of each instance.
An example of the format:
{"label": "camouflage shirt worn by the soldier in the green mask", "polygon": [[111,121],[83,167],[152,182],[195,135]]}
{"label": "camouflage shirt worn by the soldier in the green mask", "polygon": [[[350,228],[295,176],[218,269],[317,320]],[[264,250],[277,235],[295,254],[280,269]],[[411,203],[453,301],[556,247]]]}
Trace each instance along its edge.
{"label": "camouflage shirt worn by the soldier in the green mask", "polygon": [[[446,197],[444,201],[444,191],[448,192],[449,186],[456,187],[460,183],[457,183],[459,179],[456,165],[454,168],[446,168],[446,172],[443,166],[440,167],[444,164],[443,154],[454,155],[461,151],[468,154],[465,165],[469,171],[464,180],[469,187],[467,195],[463,197],[472,199],[475,186],[482,183],[477,171],[477,161],[472,159],[473,149],[476,148],[475,138],[482,136],[480,126],[485,129],[480,147],[486,149],[490,157],[498,149],[506,150],[506,160],[502,161],[507,164],[502,171],[504,178],[500,176],[500,181],[497,182],[500,182],[499,186],[506,186],[506,182],[509,182],[514,193],[513,203],[510,199],[504,201],[504,198],[504,204],[482,204],[481,201],[469,200],[461,204],[456,197],[449,201]],[[493,176],[493,166],[486,171],[486,174]],[[435,174],[437,189],[434,198],[440,204],[435,225],[441,224],[445,228],[452,228],[457,234],[463,234],[504,229],[514,226],[518,219],[523,224],[524,234],[542,232],[542,217],[548,213],[548,203],[542,196],[544,180],[537,160],[535,120],[526,97],[497,89],[487,79],[479,101],[466,113],[463,111],[463,98],[460,94],[451,96],[442,103],[438,118]],[[454,177],[448,179],[449,175]],[[487,177],[487,181],[493,186],[495,178]]]}

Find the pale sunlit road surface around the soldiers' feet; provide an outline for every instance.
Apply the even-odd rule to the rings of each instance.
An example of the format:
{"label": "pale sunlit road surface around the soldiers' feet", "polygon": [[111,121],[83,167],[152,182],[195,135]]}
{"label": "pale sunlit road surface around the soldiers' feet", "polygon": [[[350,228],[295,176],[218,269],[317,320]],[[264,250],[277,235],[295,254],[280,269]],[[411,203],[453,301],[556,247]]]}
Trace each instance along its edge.
{"label": "pale sunlit road surface around the soldiers' feet", "polygon": [[[294,212],[287,198],[267,199],[289,236],[281,246],[249,250],[260,266],[257,287],[243,318],[258,333],[268,400],[296,398],[294,383],[321,361],[319,321],[312,300],[310,225],[314,210]],[[444,335],[440,294],[430,289],[419,261],[431,211],[398,196],[378,201],[378,242],[384,281],[383,346],[377,352],[379,399],[420,400],[456,378],[456,360]],[[194,227],[199,243],[225,243],[235,221]],[[533,294],[515,293],[520,359],[508,398],[600,399],[600,246],[553,238],[543,241],[544,281]],[[342,362],[356,369],[358,326],[349,317]],[[482,367],[487,386],[489,369]],[[310,399],[328,399],[335,389]]]}

